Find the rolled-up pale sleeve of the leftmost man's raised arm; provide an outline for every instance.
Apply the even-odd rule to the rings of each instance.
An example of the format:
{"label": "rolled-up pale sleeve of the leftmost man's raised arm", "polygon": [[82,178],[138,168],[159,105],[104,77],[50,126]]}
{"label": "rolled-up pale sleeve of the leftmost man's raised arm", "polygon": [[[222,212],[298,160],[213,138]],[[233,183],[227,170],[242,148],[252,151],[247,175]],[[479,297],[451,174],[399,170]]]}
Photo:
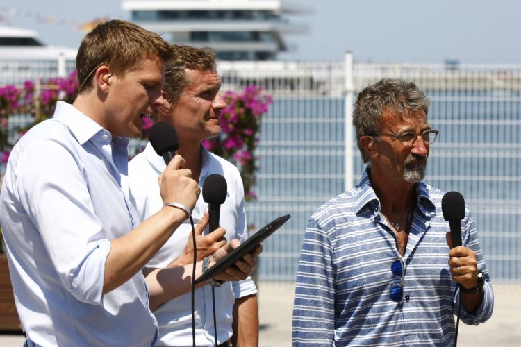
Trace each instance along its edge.
{"label": "rolled-up pale sleeve of the leftmost man's raised arm", "polygon": [[88,179],[67,144],[36,140],[19,155],[18,195],[63,284],[79,301],[101,303],[110,251]]}

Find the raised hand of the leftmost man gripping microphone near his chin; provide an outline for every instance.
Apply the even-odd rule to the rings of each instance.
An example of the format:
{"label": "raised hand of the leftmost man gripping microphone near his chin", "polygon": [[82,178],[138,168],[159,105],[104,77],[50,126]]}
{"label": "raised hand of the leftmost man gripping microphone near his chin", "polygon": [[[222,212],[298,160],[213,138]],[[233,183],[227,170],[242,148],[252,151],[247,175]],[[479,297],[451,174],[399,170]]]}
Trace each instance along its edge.
{"label": "raised hand of the leftmost man gripping microphone near his chin", "polygon": [[[183,169],[186,161],[176,155],[165,171],[158,176],[159,192],[163,203],[180,203],[193,210],[201,188],[192,179],[192,171]],[[188,217],[188,216],[187,216]]]}

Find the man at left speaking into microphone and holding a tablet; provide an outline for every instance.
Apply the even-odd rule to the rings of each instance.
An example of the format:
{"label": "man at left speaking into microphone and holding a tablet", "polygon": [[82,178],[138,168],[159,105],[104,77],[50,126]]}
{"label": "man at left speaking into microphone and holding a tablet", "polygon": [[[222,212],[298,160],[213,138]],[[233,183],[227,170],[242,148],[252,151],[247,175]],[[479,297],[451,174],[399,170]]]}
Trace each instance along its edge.
{"label": "man at left speaking into microphone and holding a tablet", "polygon": [[[78,50],[74,103],[58,103],[10,155],[0,223],[28,346],[154,345],[149,294],[190,290],[179,280],[190,266],[152,271],[147,290],[141,269],[188,214],[168,206],[140,223],[127,176],[126,137],[140,136],[142,115],[163,105],[170,51],[135,24],[100,24]],[[177,155],[158,189],[165,203],[192,209],[200,188],[184,164]],[[229,277],[246,278],[251,264]]]}

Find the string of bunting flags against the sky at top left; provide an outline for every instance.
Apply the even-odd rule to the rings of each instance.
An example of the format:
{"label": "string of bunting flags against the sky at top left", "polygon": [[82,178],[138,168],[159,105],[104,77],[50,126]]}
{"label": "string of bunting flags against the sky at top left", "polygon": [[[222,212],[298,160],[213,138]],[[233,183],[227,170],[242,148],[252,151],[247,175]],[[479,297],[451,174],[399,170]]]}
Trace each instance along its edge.
{"label": "string of bunting flags against the sky at top left", "polygon": [[0,6],[0,24],[5,23],[8,26],[13,26],[12,19],[13,17],[18,15],[24,16],[29,19],[34,19],[35,21],[40,23],[54,23],[69,26],[74,30],[83,32],[91,31],[98,24],[106,22],[110,19],[110,17],[104,16],[92,19],[91,21],[86,23],[80,23],[71,19],[56,18],[53,15],[48,15],[47,13],[36,12],[33,10],[20,10],[19,8],[13,8],[10,6]]}

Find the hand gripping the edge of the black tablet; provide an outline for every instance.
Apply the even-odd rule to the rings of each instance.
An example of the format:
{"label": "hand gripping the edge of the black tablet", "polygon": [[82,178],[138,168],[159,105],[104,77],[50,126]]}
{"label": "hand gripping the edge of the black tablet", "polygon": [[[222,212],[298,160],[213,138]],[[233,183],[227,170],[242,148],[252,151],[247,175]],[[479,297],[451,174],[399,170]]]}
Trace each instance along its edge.
{"label": "hand gripping the edge of the black tablet", "polygon": [[[233,249],[240,246],[240,242],[238,239],[233,239],[231,242],[226,244],[226,246],[221,247],[215,252],[215,254],[210,258],[209,267],[212,267],[216,262],[226,257],[228,253],[233,251]],[[256,265],[256,257],[261,254],[263,251],[263,246],[258,244],[256,248],[254,248],[251,253],[246,253],[242,256],[240,260],[237,260],[233,265],[227,267],[222,273],[215,276],[214,280],[220,281],[235,281],[235,280],[244,280],[249,276],[251,269]]]}

